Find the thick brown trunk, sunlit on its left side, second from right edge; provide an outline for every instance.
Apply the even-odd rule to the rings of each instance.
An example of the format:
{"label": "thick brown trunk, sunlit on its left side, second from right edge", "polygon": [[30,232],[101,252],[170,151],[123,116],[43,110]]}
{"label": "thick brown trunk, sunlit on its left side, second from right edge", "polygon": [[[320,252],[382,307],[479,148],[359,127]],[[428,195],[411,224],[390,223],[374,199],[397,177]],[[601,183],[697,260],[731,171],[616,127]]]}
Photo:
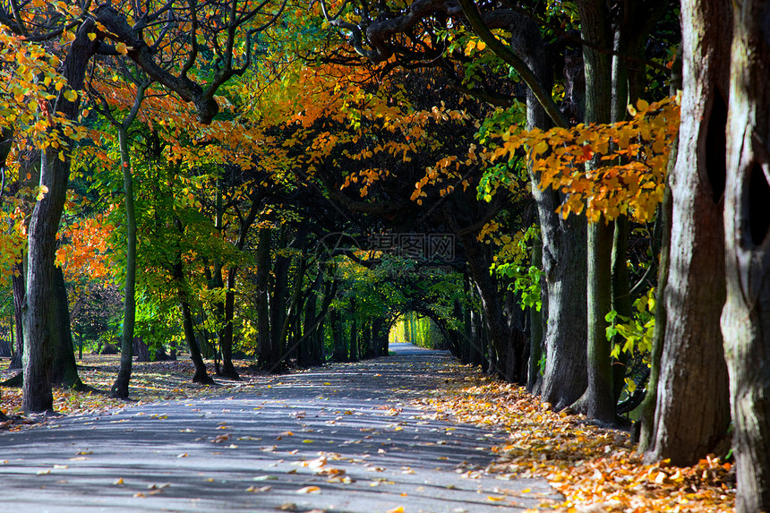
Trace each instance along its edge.
{"label": "thick brown trunk, sunlit on its left side, second from right edge", "polygon": [[[672,235],[666,321],[646,458],[687,466],[714,451],[730,423],[719,326],[725,298],[723,190],[731,9],[682,2],[684,94],[669,183]],[[651,425],[650,425],[651,424]]]}

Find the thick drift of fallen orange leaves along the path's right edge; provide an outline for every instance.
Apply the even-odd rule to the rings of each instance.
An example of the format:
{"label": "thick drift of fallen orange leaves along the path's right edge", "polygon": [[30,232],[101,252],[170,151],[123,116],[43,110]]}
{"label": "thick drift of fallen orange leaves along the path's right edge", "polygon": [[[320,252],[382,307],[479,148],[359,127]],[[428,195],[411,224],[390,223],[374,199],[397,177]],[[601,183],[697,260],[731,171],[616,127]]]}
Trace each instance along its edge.
{"label": "thick drift of fallen orange leaves along the path's right edge", "polygon": [[553,412],[525,389],[458,367],[464,375],[422,404],[461,422],[509,432],[509,443],[493,449],[498,459],[486,471],[547,479],[564,500],[541,507],[569,513],[734,510],[730,463],[706,457],[696,466],[672,466],[666,460],[645,465],[629,433],[590,425],[582,415]]}

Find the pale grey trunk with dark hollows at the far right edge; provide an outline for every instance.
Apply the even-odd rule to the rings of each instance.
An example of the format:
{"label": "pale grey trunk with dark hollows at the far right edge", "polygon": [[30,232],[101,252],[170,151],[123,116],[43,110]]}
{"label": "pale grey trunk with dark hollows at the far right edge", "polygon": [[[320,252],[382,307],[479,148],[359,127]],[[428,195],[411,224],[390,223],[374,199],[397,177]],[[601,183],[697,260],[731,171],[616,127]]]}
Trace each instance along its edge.
{"label": "pale grey trunk with dark hollows at the far right edge", "polygon": [[735,430],[735,508],[753,513],[770,511],[770,2],[733,5],[722,329]]}

